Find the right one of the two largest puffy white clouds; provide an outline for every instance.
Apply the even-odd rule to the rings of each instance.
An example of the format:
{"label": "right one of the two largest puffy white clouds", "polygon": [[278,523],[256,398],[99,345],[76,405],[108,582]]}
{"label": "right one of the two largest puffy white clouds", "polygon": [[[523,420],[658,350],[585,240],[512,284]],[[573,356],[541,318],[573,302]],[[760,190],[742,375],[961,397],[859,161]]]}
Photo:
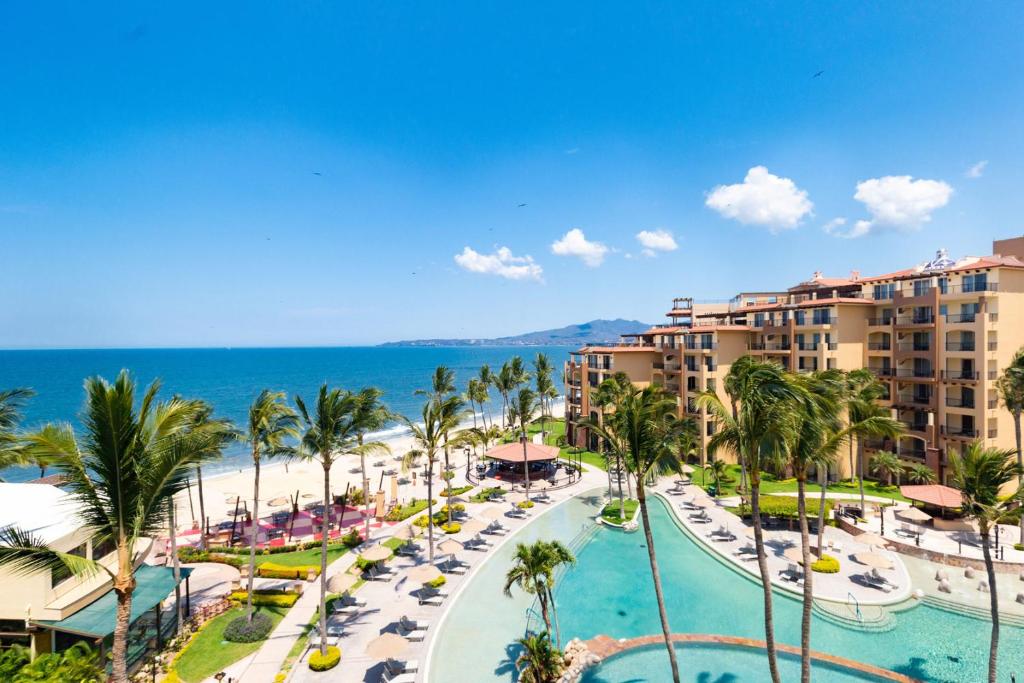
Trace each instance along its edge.
{"label": "right one of the two largest puffy white clouds", "polygon": [[871,214],[873,227],[919,228],[932,220],[932,212],[944,207],[953,188],[942,180],[914,180],[909,175],[887,175],[857,183],[853,199]]}

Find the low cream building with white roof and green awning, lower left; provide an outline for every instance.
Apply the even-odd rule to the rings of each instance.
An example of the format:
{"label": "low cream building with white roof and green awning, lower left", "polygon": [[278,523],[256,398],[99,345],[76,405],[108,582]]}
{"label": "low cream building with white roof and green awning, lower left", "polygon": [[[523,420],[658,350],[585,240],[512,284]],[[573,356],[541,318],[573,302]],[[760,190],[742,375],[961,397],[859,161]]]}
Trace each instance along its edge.
{"label": "low cream building with white roof and green awning, lower left", "polygon": [[[97,542],[78,522],[71,497],[46,483],[0,483],[0,528],[14,526],[29,531],[47,546],[117,567],[113,543]],[[174,591],[169,567],[143,564],[153,542],[135,548],[138,566],[132,599],[129,663],[151,647],[159,648],[173,631],[174,612],[164,601]],[[187,593],[187,569],[182,595]],[[69,571],[25,573],[0,567],[0,647],[17,644],[32,656],[67,649],[79,640],[101,651],[114,633],[116,596],[109,574],[99,571],[76,577]],[[163,613],[162,613],[163,612]]]}

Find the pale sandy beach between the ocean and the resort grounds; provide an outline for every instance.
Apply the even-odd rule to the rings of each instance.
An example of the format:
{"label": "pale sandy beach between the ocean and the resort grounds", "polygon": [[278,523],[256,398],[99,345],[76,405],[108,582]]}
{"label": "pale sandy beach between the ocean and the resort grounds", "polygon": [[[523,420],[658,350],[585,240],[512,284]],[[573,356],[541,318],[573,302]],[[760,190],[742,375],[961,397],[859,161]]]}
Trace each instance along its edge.
{"label": "pale sandy beach between the ocean and the resort grounds", "polygon": [[[555,401],[551,407],[552,416],[560,418],[564,414],[564,403]],[[500,423],[500,416],[495,417]],[[477,416],[479,422],[479,416]],[[463,428],[472,427],[473,420],[463,422]],[[390,454],[381,454],[367,458],[367,478],[370,480],[371,495],[381,489],[384,492],[386,507],[392,503],[392,476],[396,480],[397,502],[404,503],[413,498],[426,496],[426,484],[422,477],[413,471],[401,472],[401,458],[414,449],[412,435],[395,434],[380,439],[390,449]],[[451,463],[457,468],[466,467],[466,455],[463,450],[453,451]],[[384,474],[385,472],[394,474]],[[359,458],[343,456],[331,468],[331,493],[333,496],[344,493],[346,486],[358,488],[361,486],[359,476]],[[439,487],[435,480],[434,487]],[[324,498],[324,468],[315,460],[268,460],[260,465],[260,501],[259,515],[266,517],[274,511],[287,511],[288,504],[270,506],[276,499],[295,498],[298,495],[299,507]],[[219,472],[203,477],[203,497],[206,515],[212,525],[218,521],[231,519],[236,501],[240,505],[252,509],[253,468],[246,467],[231,472]],[[175,519],[179,531],[186,531],[199,524],[199,492],[193,479],[191,486],[175,498]]]}

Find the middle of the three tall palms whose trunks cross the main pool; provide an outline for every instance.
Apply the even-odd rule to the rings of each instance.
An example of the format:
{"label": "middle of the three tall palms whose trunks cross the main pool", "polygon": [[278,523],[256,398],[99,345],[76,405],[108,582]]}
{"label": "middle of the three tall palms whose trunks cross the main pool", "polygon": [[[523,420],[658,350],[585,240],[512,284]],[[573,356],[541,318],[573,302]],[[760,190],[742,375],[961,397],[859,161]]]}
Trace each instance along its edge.
{"label": "middle of the three tall palms whose trunks cross the main pool", "polygon": [[702,392],[696,400],[697,405],[719,425],[708,442],[709,455],[728,450],[736,454],[737,460],[746,469],[754,518],[754,545],[764,593],[765,649],[772,681],[779,683],[771,574],[761,527],[761,471],[784,453],[786,439],[792,436],[794,427],[790,408],[797,401],[799,392],[780,365],[757,360],[749,355],[732,364],[723,385],[729,392],[735,413],[714,391]]}

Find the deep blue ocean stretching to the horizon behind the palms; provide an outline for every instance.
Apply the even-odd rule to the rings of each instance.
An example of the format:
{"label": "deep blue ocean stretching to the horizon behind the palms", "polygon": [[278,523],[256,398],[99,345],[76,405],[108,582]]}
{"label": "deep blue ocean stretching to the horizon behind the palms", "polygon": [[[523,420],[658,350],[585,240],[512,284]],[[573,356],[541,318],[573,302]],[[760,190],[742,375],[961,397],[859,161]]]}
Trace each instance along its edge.
{"label": "deep blue ocean stretching to the horizon behind the palms", "polygon": [[[85,398],[85,378],[99,375],[113,380],[122,369],[130,371],[140,385],[159,378],[163,383],[161,396],[203,398],[213,404],[219,417],[239,425],[244,424],[249,403],[261,389],[285,391],[289,397],[297,393],[308,404],[324,382],[352,390],[376,386],[384,392],[384,402],[391,410],[415,419],[424,398],[414,392],[429,388],[437,366],[454,370],[462,390],[483,364],[497,372],[502,362],[518,354],[528,366],[539,352],[551,359],[560,391],[562,361],[569,352],[564,346],[0,351],[0,389],[29,387],[36,392],[25,410],[23,427],[27,429],[51,421],[77,425]],[[490,410],[500,410],[501,396],[494,389],[490,394]],[[399,429],[395,426],[389,431]],[[238,444],[209,471],[237,470],[248,464],[244,446]],[[38,476],[36,468],[0,472],[6,481]]]}

